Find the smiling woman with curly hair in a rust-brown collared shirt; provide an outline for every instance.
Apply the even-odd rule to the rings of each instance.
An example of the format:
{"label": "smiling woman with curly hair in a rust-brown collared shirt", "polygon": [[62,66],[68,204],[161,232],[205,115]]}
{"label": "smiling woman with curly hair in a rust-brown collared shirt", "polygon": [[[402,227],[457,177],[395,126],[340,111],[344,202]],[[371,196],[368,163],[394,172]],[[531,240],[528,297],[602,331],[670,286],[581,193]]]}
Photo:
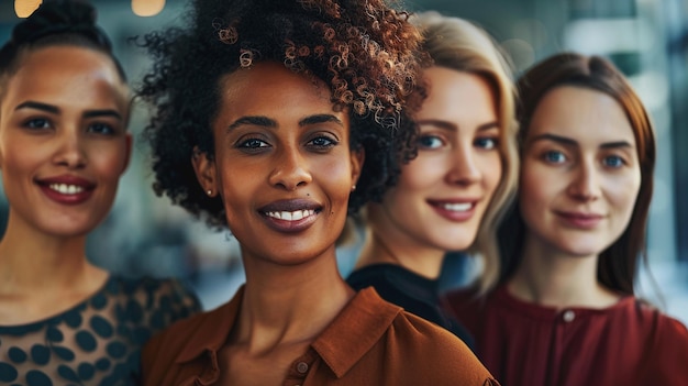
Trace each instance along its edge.
{"label": "smiling woman with curly hair in a rust-brown collared shirt", "polygon": [[229,228],[246,283],[154,338],[144,384],[496,384],[454,335],[337,271],[347,211],[412,155],[420,36],[406,13],[198,0],[188,18],[142,42],[155,189]]}

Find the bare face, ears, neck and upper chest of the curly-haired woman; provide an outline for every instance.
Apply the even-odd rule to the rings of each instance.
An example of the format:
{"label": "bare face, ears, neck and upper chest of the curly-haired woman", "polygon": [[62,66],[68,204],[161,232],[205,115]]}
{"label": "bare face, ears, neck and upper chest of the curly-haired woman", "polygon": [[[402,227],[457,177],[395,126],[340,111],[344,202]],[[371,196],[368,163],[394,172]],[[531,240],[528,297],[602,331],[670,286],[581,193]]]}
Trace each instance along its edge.
{"label": "bare face, ears, neck and upper chest of the curly-haired woman", "polygon": [[246,271],[220,384],[281,384],[354,295],[335,241],[363,154],[349,148],[348,112],[317,82],[275,63],[224,76],[214,158],[193,158],[203,189],[224,202]]}

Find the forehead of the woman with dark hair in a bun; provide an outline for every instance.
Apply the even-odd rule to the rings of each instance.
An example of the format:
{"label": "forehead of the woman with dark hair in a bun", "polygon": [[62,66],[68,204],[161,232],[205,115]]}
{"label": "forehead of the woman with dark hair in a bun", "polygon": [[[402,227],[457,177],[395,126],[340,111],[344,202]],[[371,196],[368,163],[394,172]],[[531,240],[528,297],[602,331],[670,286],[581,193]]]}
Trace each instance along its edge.
{"label": "forehead of the woman with dark hair in a bun", "polygon": [[129,88],[111,58],[77,46],[49,46],[27,52],[9,79],[5,100],[40,98],[74,106],[112,99],[127,104]]}

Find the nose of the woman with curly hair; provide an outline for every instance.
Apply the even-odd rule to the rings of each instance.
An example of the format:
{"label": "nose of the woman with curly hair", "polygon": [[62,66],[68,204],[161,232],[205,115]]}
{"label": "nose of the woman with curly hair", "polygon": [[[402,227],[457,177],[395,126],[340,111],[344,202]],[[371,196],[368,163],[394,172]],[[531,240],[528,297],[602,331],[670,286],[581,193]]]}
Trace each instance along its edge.
{"label": "nose of the woman with curly hair", "polygon": [[281,189],[293,191],[313,180],[308,159],[295,147],[286,147],[275,157],[269,183]]}

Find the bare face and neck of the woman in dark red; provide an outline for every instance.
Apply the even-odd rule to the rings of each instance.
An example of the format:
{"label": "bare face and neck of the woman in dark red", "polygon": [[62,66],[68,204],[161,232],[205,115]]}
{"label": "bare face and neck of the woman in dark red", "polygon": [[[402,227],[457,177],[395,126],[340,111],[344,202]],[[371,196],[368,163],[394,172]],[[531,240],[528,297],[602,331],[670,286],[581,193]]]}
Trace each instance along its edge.
{"label": "bare face and neck of the woman in dark red", "polygon": [[528,231],[510,291],[559,309],[613,305],[619,295],[597,282],[597,263],[629,225],[641,185],[621,106],[600,91],[555,88],[535,109],[522,158]]}

